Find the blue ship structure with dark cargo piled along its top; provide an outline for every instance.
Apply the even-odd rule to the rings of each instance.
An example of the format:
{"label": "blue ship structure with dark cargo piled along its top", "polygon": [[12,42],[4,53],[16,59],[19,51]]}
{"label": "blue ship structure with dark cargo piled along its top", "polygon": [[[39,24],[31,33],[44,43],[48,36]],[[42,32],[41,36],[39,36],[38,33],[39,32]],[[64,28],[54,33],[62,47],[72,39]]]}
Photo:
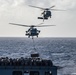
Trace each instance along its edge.
{"label": "blue ship structure with dark cargo piled along its top", "polygon": [[57,67],[51,60],[42,59],[39,54],[29,58],[0,58],[0,75],[57,75]]}

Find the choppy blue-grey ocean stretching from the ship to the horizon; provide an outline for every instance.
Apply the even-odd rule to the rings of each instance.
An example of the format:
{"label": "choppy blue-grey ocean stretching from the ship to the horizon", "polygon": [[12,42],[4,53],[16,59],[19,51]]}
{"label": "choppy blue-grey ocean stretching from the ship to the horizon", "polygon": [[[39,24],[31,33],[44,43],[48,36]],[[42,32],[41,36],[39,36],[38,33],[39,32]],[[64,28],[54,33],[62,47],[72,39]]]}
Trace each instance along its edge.
{"label": "choppy blue-grey ocean stretching from the ship to the horizon", "polygon": [[0,38],[0,57],[29,57],[31,53],[61,66],[58,75],[76,74],[76,38]]}

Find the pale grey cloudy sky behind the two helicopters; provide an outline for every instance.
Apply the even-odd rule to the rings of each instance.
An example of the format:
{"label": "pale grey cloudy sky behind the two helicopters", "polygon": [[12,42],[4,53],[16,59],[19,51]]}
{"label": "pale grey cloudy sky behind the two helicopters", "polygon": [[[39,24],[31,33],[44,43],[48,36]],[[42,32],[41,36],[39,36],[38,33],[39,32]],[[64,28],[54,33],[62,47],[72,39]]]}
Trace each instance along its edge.
{"label": "pale grey cloudy sky behind the two helicopters", "polygon": [[0,0],[0,37],[26,37],[27,27],[10,25],[18,23],[38,25],[43,20],[37,19],[42,10],[29,7],[51,7],[66,11],[51,11],[52,18],[43,25],[52,27],[37,28],[41,30],[39,37],[76,37],[76,0]]}

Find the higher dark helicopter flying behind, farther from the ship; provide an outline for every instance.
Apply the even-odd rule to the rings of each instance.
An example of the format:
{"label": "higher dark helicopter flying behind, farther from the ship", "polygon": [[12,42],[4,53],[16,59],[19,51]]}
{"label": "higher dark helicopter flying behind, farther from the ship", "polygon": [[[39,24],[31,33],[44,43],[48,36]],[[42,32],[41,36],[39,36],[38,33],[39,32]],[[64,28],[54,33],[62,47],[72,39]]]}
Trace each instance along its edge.
{"label": "higher dark helicopter flying behind, farther from the ship", "polygon": [[49,7],[49,8],[42,8],[42,7],[32,6],[32,5],[29,5],[29,6],[43,10],[43,12],[41,13],[42,17],[38,17],[38,19],[43,19],[43,21],[48,20],[48,18],[51,18],[52,14],[51,14],[50,10],[64,11],[64,10],[59,10],[59,9],[52,9],[52,8],[55,7],[55,5],[53,5],[53,6]]}

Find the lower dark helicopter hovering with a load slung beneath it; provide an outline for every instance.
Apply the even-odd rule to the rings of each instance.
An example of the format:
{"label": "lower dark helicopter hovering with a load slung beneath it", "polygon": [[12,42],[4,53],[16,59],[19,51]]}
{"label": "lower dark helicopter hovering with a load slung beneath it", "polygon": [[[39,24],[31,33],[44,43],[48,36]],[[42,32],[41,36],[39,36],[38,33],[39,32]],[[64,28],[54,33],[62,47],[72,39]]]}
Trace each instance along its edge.
{"label": "lower dark helicopter hovering with a load slung beneath it", "polygon": [[[9,23],[9,24],[12,24],[12,25],[18,25],[18,26],[23,26],[23,27],[30,27],[27,31],[26,31],[26,36],[28,36],[28,38],[30,38],[30,36],[32,37],[32,39],[34,38],[34,36],[37,36],[39,35],[40,33],[40,30],[37,30],[36,27],[46,27],[46,26],[55,26],[55,25],[23,25],[23,24],[16,24],[16,23]],[[41,23],[42,24],[42,23]]]}

